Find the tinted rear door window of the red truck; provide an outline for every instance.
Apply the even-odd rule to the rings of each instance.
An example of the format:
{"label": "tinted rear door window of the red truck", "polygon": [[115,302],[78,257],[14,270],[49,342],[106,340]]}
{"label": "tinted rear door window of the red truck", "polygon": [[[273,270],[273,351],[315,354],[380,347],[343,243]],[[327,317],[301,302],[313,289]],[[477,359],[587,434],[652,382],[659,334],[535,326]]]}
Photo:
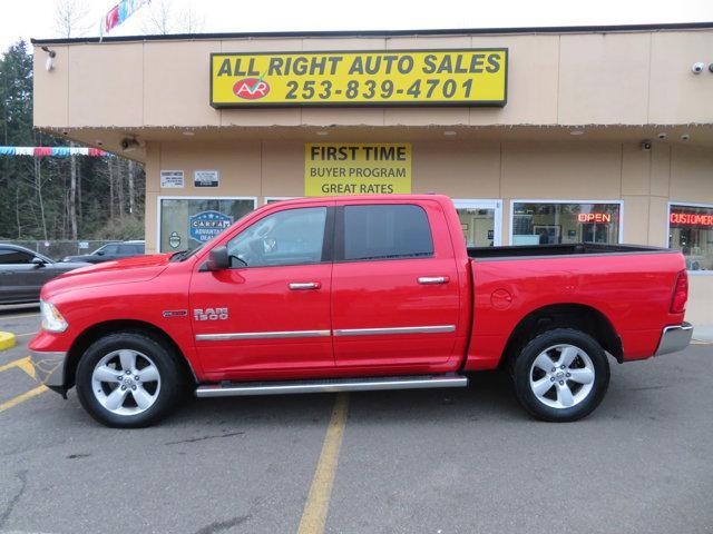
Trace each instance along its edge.
{"label": "tinted rear door window of the red truck", "polygon": [[433,256],[428,216],[409,204],[344,206],[342,239],[346,261]]}

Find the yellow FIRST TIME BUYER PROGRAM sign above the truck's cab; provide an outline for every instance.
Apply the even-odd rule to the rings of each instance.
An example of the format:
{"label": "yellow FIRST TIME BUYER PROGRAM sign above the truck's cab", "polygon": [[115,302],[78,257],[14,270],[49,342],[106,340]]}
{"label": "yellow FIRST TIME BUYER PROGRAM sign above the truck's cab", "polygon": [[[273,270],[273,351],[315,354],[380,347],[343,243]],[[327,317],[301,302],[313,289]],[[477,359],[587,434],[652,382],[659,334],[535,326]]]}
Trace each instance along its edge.
{"label": "yellow FIRST TIME BUYER PROGRAM sign above the truck's cab", "polygon": [[307,197],[411,192],[411,144],[307,142]]}

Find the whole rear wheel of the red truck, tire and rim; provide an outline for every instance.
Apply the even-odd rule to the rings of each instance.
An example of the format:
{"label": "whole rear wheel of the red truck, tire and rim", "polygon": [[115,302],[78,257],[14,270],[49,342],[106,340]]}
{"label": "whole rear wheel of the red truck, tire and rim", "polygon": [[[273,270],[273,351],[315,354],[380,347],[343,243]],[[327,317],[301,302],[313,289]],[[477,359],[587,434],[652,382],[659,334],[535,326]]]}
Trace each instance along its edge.
{"label": "whole rear wheel of the red truck, tire and rim", "polygon": [[609,385],[609,363],[588,334],[570,328],[545,332],[515,360],[515,393],[535,417],[569,422],[589,415]]}

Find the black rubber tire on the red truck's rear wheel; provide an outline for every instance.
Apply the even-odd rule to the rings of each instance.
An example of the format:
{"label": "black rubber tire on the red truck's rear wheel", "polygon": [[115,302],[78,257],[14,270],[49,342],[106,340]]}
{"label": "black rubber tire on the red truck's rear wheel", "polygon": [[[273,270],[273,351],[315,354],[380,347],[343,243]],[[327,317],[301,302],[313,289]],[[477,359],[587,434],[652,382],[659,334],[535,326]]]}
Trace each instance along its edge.
{"label": "black rubber tire on the red truck's rear wheel", "polygon": [[[530,386],[530,376],[533,375],[533,379],[537,380],[538,378],[535,375],[541,373],[539,367],[536,368],[535,360],[549,347],[555,347],[558,345],[569,345],[582,350],[585,356],[589,358],[592,364],[590,367],[594,368],[594,380],[593,383],[590,383],[590,390],[585,394],[585,390],[576,389],[577,392],[582,390],[582,399],[570,407],[553,407],[545,404],[545,402],[549,400],[549,398],[545,397],[544,400],[540,400],[540,398],[538,398],[538,396],[533,390],[533,387]],[[560,349],[554,349],[548,354],[553,356],[561,354],[558,353],[558,350]],[[585,364],[585,359],[580,356],[575,357],[575,360],[573,362],[573,368],[574,366],[578,365],[587,365]],[[555,372],[559,374],[560,369],[557,366],[555,366],[554,368]],[[517,359],[515,360],[515,364],[512,366],[512,370],[515,394],[522,407],[530,415],[537,417],[538,419],[555,423],[577,421],[589,415],[599,405],[609,385],[609,362],[607,359],[606,353],[592,336],[585,334],[584,332],[575,330],[572,328],[557,328],[554,330],[545,332],[535,337],[525,346],[525,348],[522,348],[520,354],[517,356]],[[566,369],[561,370],[569,370],[569,368],[567,367]],[[574,374],[575,372],[573,370],[572,373]],[[559,402],[559,388],[557,384],[563,384],[564,382],[567,389],[569,389],[570,387],[573,389],[583,387],[582,384],[573,382],[572,379],[567,379],[566,376],[570,375],[567,374],[565,376],[556,377],[555,373],[553,373],[551,375],[541,373],[541,377],[553,382],[553,389],[549,389],[545,394],[555,397],[553,400],[550,400],[551,403]],[[563,378],[563,382],[559,382],[559,378]],[[544,385],[543,387],[546,387],[546,385]],[[577,397],[576,393],[574,397]]]}

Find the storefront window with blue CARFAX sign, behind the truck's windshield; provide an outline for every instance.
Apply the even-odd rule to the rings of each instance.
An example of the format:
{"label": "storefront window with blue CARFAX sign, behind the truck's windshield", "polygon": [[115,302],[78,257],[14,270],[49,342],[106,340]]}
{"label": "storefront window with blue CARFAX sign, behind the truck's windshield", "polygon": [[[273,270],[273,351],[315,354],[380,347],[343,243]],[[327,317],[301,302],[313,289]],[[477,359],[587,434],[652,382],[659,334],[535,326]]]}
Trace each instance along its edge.
{"label": "storefront window with blue CARFAX sign, behind the truck's windshield", "polygon": [[162,198],[159,251],[193,250],[253,209],[253,199]]}

